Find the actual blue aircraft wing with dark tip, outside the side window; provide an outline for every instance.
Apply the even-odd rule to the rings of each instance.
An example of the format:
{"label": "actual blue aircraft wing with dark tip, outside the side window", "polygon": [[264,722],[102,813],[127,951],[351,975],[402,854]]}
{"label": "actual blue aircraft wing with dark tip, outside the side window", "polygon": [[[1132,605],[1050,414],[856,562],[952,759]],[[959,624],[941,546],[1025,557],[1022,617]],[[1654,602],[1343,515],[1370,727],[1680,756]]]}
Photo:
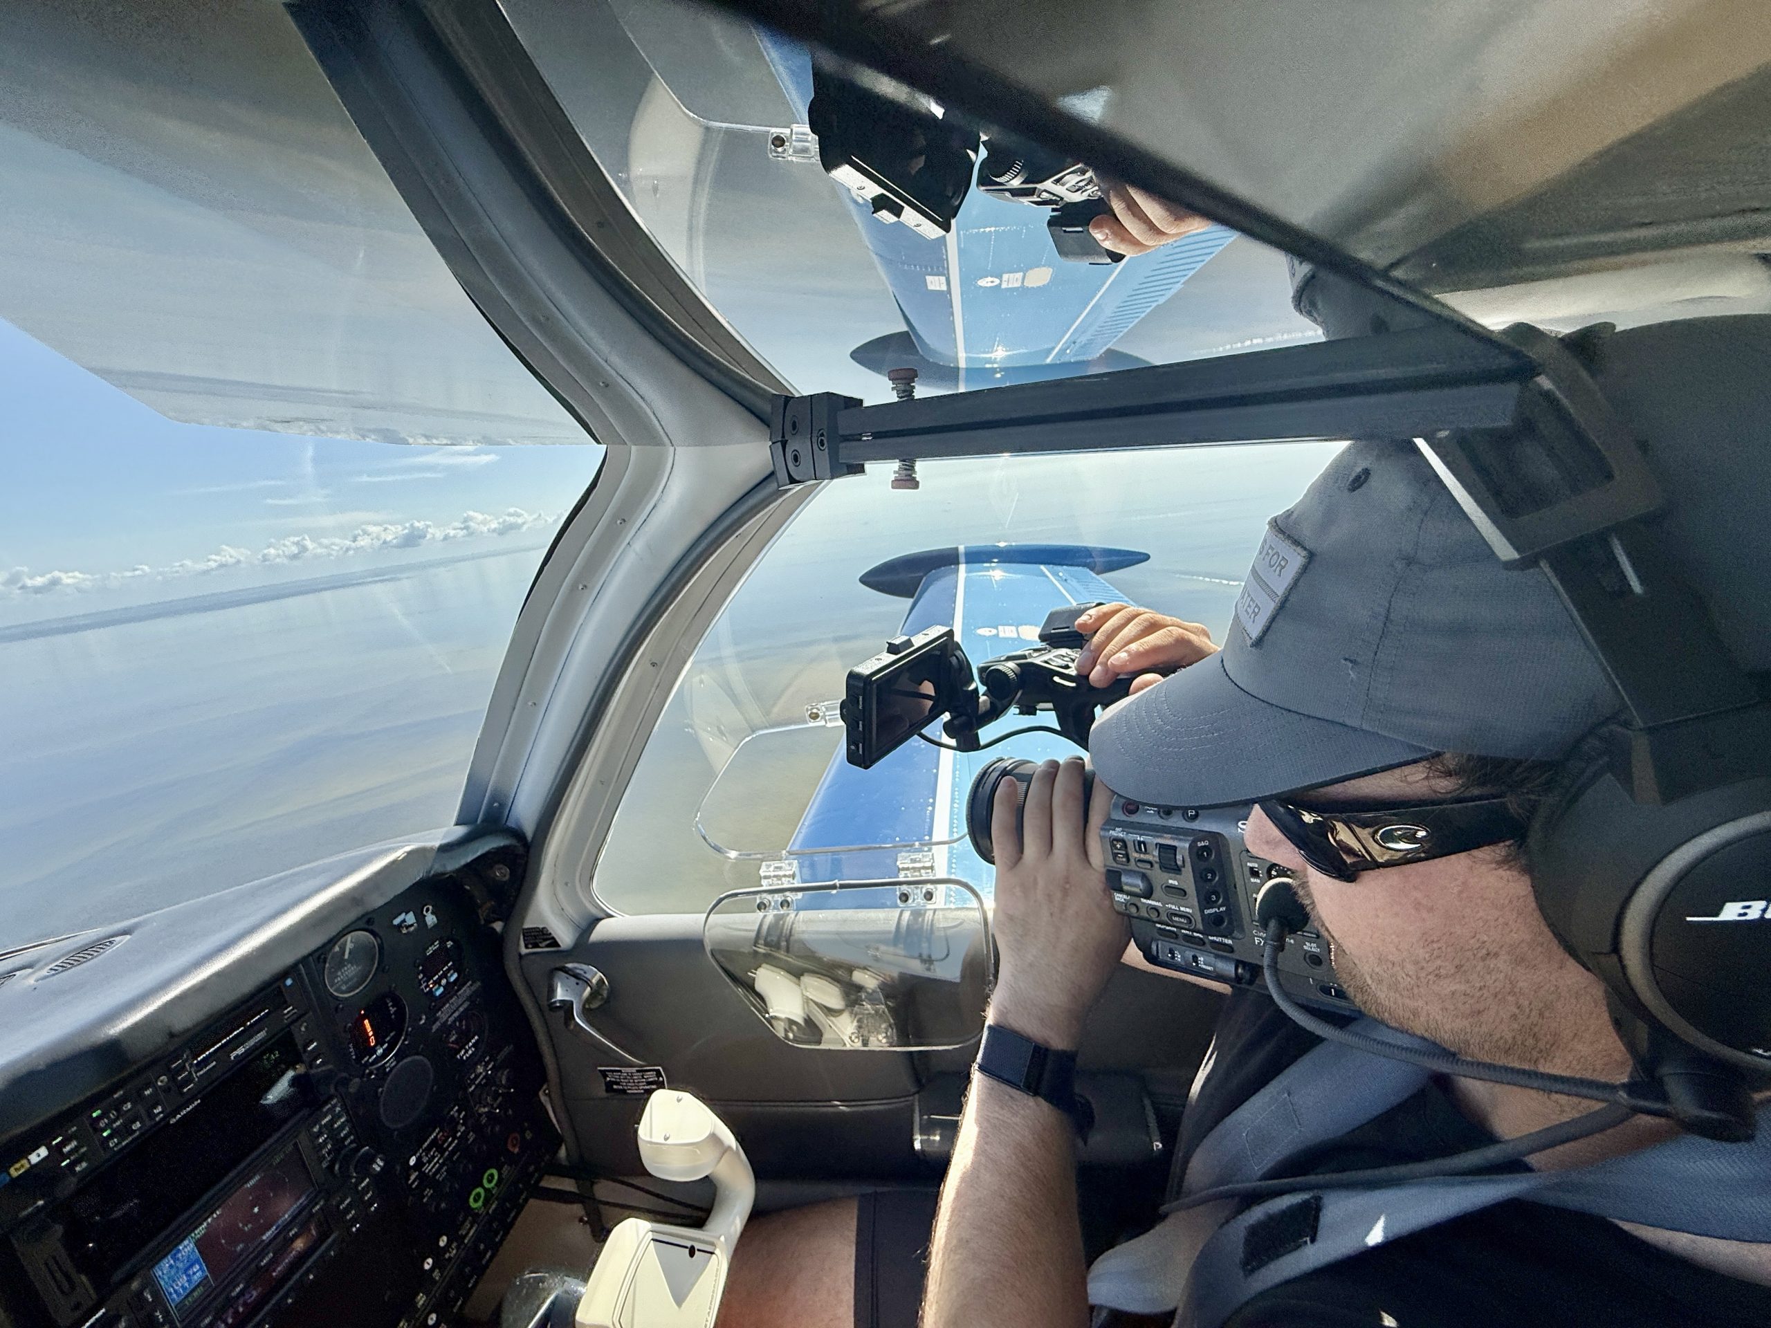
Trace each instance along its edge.
{"label": "actual blue aircraft wing with dark tip, outside the side window", "polygon": [[[1125,598],[1102,574],[1146,558],[1135,549],[1075,544],[974,544],[893,558],[861,583],[910,600],[905,634],[951,625],[978,664],[1038,641],[1040,623],[1059,606]],[[986,730],[986,740],[1040,722],[1050,722],[1050,715],[1009,715]],[[939,737],[939,726],[932,726],[932,737]],[[799,878],[891,880],[901,853],[926,852],[933,875],[969,880],[988,894],[990,873],[965,839],[972,777],[994,756],[1038,761],[1075,754],[1073,744],[1050,733],[1029,733],[981,753],[907,742],[871,770],[859,770],[838,747],[788,845]]]}

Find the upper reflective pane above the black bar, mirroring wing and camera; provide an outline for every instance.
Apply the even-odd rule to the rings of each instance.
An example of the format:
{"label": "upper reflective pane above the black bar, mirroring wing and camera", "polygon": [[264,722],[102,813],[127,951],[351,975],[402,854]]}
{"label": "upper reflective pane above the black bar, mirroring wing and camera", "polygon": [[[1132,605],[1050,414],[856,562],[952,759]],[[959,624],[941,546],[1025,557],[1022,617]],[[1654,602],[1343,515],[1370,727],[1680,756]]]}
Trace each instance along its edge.
{"label": "upper reflective pane above the black bar, mirroring wing and camera", "polygon": [[[638,218],[799,391],[884,400],[898,368],[921,393],[955,391],[1318,336],[1291,308],[1284,255],[1224,227],[1066,262],[1050,207],[981,186],[988,140],[976,165],[956,158],[946,232],[859,198],[859,177],[825,174],[820,152],[857,145],[877,108],[831,97],[804,46],[746,19],[687,0],[503,9]],[[871,165],[898,152],[896,177],[923,163],[903,135],[859,149]]]}

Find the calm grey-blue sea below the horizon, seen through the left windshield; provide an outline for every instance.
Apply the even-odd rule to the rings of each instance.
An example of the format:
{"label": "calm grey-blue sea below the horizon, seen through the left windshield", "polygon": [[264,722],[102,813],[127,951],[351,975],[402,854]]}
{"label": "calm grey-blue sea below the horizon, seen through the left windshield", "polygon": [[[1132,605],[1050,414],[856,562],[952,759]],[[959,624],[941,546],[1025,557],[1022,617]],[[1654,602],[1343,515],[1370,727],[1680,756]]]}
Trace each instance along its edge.
{"label": "calm grey-blue sea below the horizon, seen through the left windshield", "polygon": [[452,823],[524,545],[0,625],[0,951]]}

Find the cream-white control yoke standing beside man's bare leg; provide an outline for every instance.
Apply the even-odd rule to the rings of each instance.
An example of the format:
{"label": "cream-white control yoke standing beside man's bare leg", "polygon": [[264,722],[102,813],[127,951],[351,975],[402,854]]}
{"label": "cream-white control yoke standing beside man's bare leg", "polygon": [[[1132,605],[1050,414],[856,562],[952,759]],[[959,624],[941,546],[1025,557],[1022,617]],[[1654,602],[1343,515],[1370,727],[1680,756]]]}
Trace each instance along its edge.
{"label": "cream-white control yoke standing beside man's bare leg", "polygon": [[756,1176],[731,1130],[689,1093],[659,1089],[639,1116],[639,1158],[662,1181],[714,1181],[703,1227],[627,1218],[602,1247],[576,1328],[712,1328]]}

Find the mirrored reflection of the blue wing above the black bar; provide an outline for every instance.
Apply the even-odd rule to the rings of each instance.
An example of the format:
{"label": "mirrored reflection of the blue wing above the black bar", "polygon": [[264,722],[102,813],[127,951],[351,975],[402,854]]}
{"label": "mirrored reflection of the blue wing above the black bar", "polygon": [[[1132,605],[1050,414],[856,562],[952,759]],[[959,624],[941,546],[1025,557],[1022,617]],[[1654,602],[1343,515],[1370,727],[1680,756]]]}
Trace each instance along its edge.
{"label": "mirrored reflection of the blue wing above the black bar", "polygon": [[[762,27],[756,37],[804,120],[811,103],[809,51]],[[831,188],[848,200],[916,356],[956,370],[951,384],[937,374],[924,386],[963,390],[1084,372],[1234,239],[1233,230],[1213,225],[1112,266],[1061,262],[1040,207],[972,189],[946,241],[933,241],[880,221],[847,189]],[[870,368],[871,358],[857,354]]]}

